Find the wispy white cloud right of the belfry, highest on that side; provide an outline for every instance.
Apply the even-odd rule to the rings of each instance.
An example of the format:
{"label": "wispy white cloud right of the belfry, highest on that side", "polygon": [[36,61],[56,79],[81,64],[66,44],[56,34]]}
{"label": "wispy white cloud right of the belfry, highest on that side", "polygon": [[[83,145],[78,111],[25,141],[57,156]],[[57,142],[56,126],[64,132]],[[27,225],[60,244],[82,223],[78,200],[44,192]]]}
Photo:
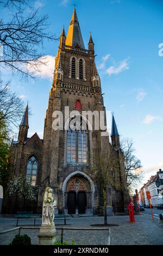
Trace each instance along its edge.
{"label": "wispy white cloud right of the belfry, highest on that side", "polygon": [[129,69],[129,59],[130,59],[129,57],[126,59],[123,59],[123,61],[118,62],[114,66],[109,67],[108,69],[106,69],[106,73],[109,75],[117,75],[124,70],[128,70]]}

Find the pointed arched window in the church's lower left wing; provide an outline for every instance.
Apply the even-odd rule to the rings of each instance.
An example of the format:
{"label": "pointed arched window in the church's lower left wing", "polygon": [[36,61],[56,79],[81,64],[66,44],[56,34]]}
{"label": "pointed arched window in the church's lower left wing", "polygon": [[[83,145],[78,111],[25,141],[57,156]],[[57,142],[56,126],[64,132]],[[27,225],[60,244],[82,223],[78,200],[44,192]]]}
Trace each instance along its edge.
{"label": "pointed arched window in the church's lower left wing", "polygon": [[31,186],[36,186],[36,175],[37,175],[38,162],[35,157],[31,157],[27,163],[27,174],[26,177],[30,181]]}

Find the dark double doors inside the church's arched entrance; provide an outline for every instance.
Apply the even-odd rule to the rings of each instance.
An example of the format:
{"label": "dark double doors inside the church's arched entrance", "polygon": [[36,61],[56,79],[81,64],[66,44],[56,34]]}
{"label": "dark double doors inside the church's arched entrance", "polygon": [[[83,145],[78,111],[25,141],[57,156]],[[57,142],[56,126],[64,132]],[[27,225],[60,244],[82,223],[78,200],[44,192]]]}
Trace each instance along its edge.
{"label": "dark double doors inside the church's arched entrance", "polygon": [[86,192],[70,191],[67,195],[68,214],[84,214],[86,211]]}

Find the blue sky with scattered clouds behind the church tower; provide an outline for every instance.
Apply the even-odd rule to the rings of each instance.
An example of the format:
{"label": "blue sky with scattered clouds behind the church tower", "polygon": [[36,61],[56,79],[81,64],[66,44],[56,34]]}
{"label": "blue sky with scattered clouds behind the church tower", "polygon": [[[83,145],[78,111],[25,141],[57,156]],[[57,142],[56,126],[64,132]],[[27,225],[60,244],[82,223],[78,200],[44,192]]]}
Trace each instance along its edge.
{"label": "blue sky with scattered clouds behind the church tower", "polygon": [[[59,37],[62,26],[67,33],[73,11],[72,0],[39,0],[35,8],[48,13],[49,29]],[[91,31],[95,43],[96,65],[101,75],[104,104],[114,111],[119,133],[131,138],[136,156],[141,159],[145,180],[163,169],[163,1],[158,0],[78,0],[77,15],[87,47]],[[49,60],[36,80],[11,79],[12,90],[29,100],[33,115],[29,135],[42,138],[43,124],[52,86],[54,56],[58,41],[46,41],[43,53]],[[110,126],[110,120],[108,120]]]}

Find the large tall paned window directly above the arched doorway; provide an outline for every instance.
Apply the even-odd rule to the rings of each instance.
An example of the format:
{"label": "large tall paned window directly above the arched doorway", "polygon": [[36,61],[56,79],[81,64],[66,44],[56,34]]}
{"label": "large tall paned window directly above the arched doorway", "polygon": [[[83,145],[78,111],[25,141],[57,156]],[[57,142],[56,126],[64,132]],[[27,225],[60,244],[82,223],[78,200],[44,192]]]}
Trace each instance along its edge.
{"label": "large tall paned window directly above the arched doorway", "polygon": [[67,163],[86,164],[87,163],[87,134],[86,130],[67,130]]}

